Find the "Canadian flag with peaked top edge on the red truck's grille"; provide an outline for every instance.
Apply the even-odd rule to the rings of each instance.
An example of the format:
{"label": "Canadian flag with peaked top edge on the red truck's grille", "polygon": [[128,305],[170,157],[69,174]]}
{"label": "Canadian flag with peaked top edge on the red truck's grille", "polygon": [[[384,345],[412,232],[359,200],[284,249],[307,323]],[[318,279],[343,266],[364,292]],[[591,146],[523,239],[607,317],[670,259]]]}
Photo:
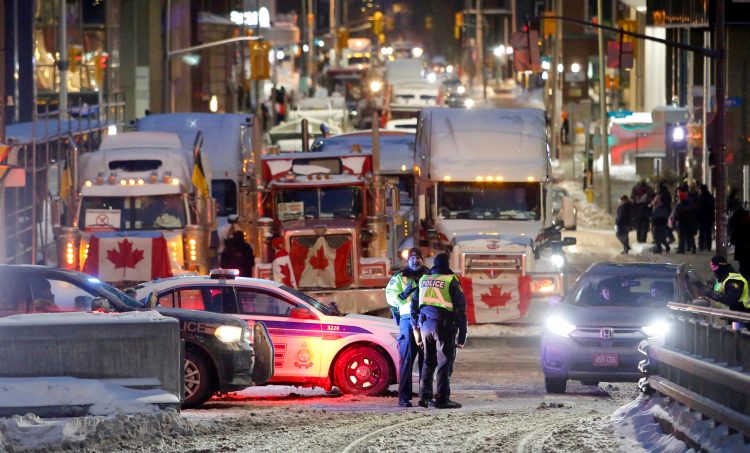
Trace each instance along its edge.
{"label": "Canadian flag with peaked top edge on the red truck's grille", "polygon": [[320,236],[308,249],[293,238],[290,256],[299,287],[341,288],[350,285],[352,276],[347,272],[347,263],[351,248],[351,239],[334,249],[324,236]]}

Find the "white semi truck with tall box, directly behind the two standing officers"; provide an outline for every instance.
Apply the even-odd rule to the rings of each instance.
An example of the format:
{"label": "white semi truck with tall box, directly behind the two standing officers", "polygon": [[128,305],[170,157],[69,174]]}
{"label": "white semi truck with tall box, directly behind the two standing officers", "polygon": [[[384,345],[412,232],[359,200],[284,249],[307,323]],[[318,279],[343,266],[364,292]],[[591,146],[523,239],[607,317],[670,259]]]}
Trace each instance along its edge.
{"label": "white semi truck with tall box, directly behind the two standing officers", "polygon": [[426,108],[416,139],[417,241],[448,252],[472,323],[534,323],[564,290],[544,112]]}

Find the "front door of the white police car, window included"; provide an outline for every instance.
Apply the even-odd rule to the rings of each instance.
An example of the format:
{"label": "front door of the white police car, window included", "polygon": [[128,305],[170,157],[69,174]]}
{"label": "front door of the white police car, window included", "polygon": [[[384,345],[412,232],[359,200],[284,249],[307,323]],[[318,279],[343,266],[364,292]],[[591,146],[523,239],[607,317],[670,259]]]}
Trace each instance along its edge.
{"label": "front door of the white police car, window included", "polygon": [[235,286],[235,293],[238,315],[263,321],[271,335],[272,381],[304,382],[320,376],[322,332],[315,312],[271,290]]}

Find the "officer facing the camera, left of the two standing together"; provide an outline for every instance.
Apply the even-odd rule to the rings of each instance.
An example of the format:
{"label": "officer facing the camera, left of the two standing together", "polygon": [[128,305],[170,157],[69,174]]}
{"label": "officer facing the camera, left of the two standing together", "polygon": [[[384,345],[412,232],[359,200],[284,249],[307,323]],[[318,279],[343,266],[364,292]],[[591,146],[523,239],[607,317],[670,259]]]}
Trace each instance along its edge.
{"label": "officer facing the camera, left of the two standing together", "polygon": [[417,359],[419,371],[422,371],[424,355],[417,347],[412,335],[411,324],[411,295],[417,291],[419,279],[426,274],[427,269],[422,257],[422,251],[414,247],[409,250],[406,268],[397,272],[385,288],[385,298],[390,305],[396,324],[399,326],[398,354],[400,360],[398,381],[398,405],[411,407],[412,381],[411,373],[414,360]]}

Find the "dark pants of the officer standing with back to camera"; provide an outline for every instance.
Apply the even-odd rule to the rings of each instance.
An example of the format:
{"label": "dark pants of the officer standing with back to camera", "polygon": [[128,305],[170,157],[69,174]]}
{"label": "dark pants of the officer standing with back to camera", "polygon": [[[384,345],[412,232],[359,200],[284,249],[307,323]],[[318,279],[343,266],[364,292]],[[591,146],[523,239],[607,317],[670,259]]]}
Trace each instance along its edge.
{"label": "dark pants of the officer standing with back to camera", "polygon": [[437,371],[435,402],[445,403],[451,396],[450,375],[456,358],[456,329],[445,320],[427,318],[422,322],[420,331],[425,357],[419,397],[428,400],[432,396],[433,374]]}

